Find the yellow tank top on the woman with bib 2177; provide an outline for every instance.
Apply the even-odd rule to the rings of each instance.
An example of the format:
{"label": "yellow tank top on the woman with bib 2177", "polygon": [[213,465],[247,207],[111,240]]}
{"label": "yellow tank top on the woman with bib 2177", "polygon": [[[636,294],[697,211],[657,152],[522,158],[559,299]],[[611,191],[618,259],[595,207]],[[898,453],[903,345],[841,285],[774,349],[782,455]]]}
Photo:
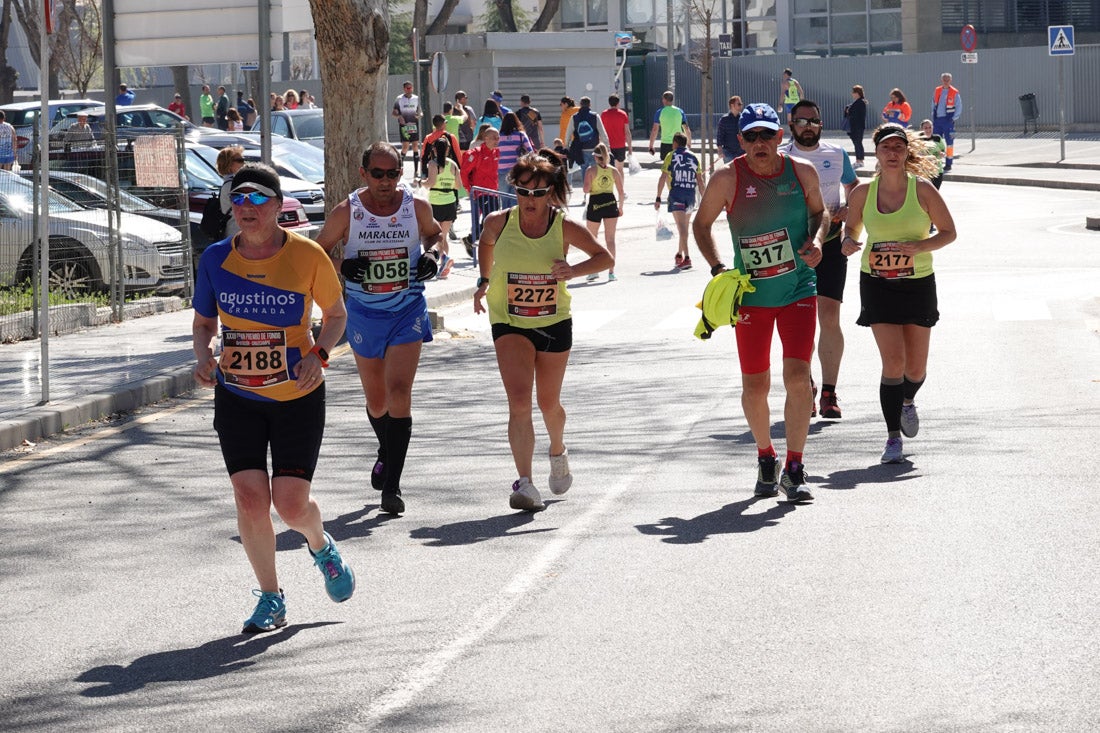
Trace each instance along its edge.
{"label": "yellow tank top on the woman with bib 2177", "polygon": [[932,253],[921,252],[915,256],[898,251],[898,242],[917,242],[928,238],[932,220],[916,198],[916,177],[909,176],[905,203],[897,211],[879,211],[879,178],[871,179],[864,204],[864,228],[867,229],[867,244],[859,263],[862,272],[873,277],[895,280],[899,277],[927,277],[932,274]]}

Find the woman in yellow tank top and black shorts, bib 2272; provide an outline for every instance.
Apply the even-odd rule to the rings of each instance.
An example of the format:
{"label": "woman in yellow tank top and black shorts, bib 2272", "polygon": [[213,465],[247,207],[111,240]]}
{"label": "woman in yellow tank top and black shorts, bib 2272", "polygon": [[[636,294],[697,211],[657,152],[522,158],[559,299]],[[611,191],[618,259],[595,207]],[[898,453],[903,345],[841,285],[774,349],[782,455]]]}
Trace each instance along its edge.
{"label": "woman in yellow tank top and black shorts, bib 2272", "polygon": [[[550,437],[550,491],[565,493],[573,482],[565,450],[565,409],[561,384],[573,346],[573,321],[565,283],[578,275],[607,270],[614,258],[587,229],[565,218],[569,185],[552,151],[524,155],[509,175],[517,205],[491,214],[477,240],[481,277],[474,313],[484,313],[488,296],[493,343],[501,380],[508,396],[508,445],[519,479],[512,484],[512,508],[546,508],[531,482],[535,425],[531,392],[538,382],[538,404]],[[587,259],[570,264],[575,247]]]}

